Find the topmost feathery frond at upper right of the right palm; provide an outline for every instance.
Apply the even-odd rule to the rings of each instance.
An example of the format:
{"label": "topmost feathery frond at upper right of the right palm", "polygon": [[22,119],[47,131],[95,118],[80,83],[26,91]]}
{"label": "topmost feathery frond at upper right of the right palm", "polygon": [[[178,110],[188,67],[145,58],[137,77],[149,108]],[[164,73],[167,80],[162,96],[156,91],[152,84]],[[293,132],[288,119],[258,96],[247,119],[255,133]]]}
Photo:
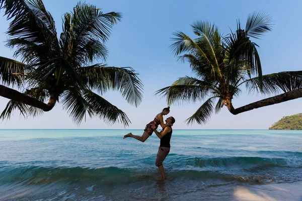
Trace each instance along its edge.
{"label": "topmost feathery frond at upper right of the right palm", "polygon": [[259,39],[264,33],[272,31],[272,18],[265,12],[254,12],[249,15],[246,24],[246,34]]}

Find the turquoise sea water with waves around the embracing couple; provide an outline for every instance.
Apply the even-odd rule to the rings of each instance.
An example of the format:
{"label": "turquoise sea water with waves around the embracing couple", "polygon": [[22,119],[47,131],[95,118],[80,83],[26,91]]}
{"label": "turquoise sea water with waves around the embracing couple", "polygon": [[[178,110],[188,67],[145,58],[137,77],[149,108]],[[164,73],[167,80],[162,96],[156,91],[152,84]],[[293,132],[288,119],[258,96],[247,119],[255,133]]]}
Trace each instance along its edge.
{"label": "turquoise sea water with waves around the embracing couple", "polygon": [[[0,130],[0,200],[232,200],[232,186],[302,180],[302,131]],[[188,196],[187,196],[187,195]],[[189,196],[190,195],[190,196]]]}

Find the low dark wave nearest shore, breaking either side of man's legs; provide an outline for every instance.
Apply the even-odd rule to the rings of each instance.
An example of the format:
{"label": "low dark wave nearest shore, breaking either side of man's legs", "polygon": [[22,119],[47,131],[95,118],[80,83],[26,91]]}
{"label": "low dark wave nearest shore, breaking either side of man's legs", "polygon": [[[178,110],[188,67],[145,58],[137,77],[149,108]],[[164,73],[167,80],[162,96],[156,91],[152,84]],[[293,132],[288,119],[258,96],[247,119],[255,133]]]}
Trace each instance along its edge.
{"label": "low dark wave nearest shore, breaking either side of man's legs", "polygon": [[[283,182],[302,180],[302,171],[258,173],[238,173],[223,172],[217,170],[168,170],[170,179],[223,179],[226,181],[239,182]],[[23,184],[50,184],[50,183],[70,183],[79,181],[95,181],[98,184],[116,185],[121,183],[156,180],[159,173],[156,168],[153,171],[142,171],[138,169],[125,169],[117,167],[107,168],[45,168],[28,167],[14,169],[10,171],[0,171],[0,182],[2,183],[23,183]]]}

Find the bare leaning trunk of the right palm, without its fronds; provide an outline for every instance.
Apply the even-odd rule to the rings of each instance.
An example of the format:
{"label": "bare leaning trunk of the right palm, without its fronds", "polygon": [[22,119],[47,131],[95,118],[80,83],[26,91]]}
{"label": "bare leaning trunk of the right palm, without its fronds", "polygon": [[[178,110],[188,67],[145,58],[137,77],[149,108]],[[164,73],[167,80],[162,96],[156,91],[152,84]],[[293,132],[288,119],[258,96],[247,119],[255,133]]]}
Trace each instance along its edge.
{"label": "bare leaning trunk of the right palm, without its fronds", "polygon": [[287,100],[292,100],[295,98],[302,97],[302,88],[295,89],[286,93],[282,93],[280,95],[276,95],[273,97],[265,98],[262,100],[259,100],[257,102],[242,106],[240,108],[235,109],[232,105],[231,101],[226,101],[226,107],[228,107],[229,111],[233,115],[238,115],[240,113],[244,113],[253,109],[262,108],[265,106],[271,106],[274,104],[279,104],[282,102],[286,102]]}

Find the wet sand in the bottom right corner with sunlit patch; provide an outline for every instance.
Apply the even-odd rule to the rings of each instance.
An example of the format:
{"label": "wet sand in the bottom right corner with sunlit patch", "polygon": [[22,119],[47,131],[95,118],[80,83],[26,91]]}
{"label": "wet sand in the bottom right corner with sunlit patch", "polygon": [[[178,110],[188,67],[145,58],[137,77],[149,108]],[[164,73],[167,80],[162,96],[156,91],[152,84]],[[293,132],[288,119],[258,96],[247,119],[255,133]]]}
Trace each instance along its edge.
{"label": "wet sand in the bottom right corner with sunlit patch", "polygon": [[302,201],[302,181],[292,183],[236,183],[188,191],[167,200]]}

